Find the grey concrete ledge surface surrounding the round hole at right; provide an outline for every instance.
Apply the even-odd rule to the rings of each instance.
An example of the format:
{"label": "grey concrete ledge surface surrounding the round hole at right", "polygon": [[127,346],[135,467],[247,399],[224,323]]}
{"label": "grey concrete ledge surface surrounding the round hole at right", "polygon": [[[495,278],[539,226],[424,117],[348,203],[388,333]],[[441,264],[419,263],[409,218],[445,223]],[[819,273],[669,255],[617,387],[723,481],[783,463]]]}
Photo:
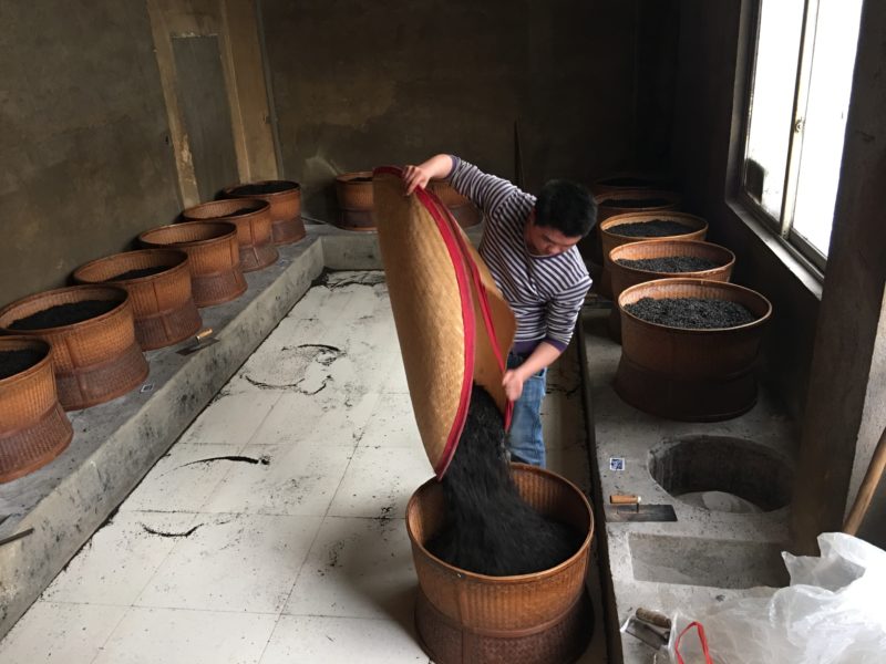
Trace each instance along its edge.
{"label": "grey concrete ledge surface surrounding the round hole at right", "polygon": [[[790,467],[796,458],[797,434],[762,386],[750,412],[719,423],[667,421],[629,406],[612,388],[621,346],[609,339],[608,315],[607,309],[586,308],[579,349],[608,652],[614,664],[639,664],[650,662],[653,651],[619,632],[619,625],[638,606],[666,614],[676,610],[691,613],[725,599],[771,593],[760,587],[781,581],[779,553],[787,541],[790,510],[734,513],[696,507],[656,481],[650,474],[650,452],[660,449],[662,442],[693,437],[746,440],[765,452],[764,458],[771,455]],[[622,469],[610,469],[610,458],[622,459]],[[721,463],[722,458],[713,459],[713,464]],[[636,494],[646,505],[671,505],[678,520],[607,521],[606,502],[611,494]]]}

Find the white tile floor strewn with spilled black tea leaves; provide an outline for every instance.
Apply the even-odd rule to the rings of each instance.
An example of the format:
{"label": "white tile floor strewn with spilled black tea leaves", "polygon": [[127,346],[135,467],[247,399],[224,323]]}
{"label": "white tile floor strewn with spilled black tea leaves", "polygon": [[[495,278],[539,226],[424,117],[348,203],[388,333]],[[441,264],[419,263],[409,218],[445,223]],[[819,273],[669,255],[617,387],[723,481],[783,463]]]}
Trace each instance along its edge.
{"label": "white tile floor strewn with spilled black tea leaves", "polygon": [[[403,516],[431,470],[378,276],[308,291],[0,642],[0,662],[427,662]],[[545,433],[549,467],[587,489],[578,382],[571,352],[549,372]],[[599,622],[581,662],[604,661]]]}

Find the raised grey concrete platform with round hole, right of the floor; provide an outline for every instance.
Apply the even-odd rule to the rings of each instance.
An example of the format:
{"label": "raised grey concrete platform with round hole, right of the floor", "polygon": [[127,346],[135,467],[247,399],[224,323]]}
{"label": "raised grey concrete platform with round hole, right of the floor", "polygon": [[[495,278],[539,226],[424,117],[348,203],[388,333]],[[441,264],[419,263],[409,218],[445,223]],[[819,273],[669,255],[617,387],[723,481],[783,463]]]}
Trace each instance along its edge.
{"label": "raised grey concrete platform with round hole, right of the floor", "polygon": [[[580,329],[607,643],[611,662],[650,663],[655,651],[619,632],[637,608],[691,614],[728,598],[769,594],[760,587],[786,581],[780,552],[787,541],[797,436],[765,392],[749,413],[721,423],[670,422],[629,406],[612,388],[621,346],[609,338],[608,315],[608,309],[586,308]],[[621,469],[610,469],[610,459],[621,459],[611,465]],[[694,495],[679,498],[668,488]],[[718,506],[729,497],[702,494],[718,489],[744,494],[769,511],[701,507],[704,498],[713,507],[746,507]],[[611,494],[671,505],[677,521],[607,520]],[[776,505],[782,507],[772,509]]]}

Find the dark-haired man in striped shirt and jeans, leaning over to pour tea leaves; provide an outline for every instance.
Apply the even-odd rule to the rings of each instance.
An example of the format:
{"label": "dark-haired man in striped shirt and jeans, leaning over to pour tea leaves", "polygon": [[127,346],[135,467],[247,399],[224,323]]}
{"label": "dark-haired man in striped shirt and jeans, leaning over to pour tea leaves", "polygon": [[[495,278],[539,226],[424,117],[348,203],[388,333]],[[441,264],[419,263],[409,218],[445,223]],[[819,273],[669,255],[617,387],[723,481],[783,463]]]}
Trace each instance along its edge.
{"label": "dark-haired man in striped shirt and jeans, leaning over to pour tea leaves", "polygon": [[575,183],[548,181],[536,199],[453,155],[436,155],[403,170],[406,194],[445,178],[485,212],[480,255],[517,320],[502,381],[514,402],[511,458],[544,467],[545,375],[569,344],[590,288],[576,245],[594,227],[597,206]]}

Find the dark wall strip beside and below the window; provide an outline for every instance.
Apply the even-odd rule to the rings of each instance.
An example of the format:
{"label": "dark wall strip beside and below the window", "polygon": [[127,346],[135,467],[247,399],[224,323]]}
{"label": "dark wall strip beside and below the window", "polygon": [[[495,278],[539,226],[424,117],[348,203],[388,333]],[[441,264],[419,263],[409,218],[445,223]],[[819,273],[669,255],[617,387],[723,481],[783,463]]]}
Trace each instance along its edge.
{"label": "dark wall strip beside and below the window", "polygon": [[741,0],[682,0],[673,125],[674,169],[686,207],[710,224],[710,240],[732,249],[733,280],[764,294],[773,318],[766,332],[766,376],[789,411],[800,417],[818,313],[818,298],[785,267],[770,245],[725,203],[730,142],[744,110],[733,107],[745,71],[736,68]]}

